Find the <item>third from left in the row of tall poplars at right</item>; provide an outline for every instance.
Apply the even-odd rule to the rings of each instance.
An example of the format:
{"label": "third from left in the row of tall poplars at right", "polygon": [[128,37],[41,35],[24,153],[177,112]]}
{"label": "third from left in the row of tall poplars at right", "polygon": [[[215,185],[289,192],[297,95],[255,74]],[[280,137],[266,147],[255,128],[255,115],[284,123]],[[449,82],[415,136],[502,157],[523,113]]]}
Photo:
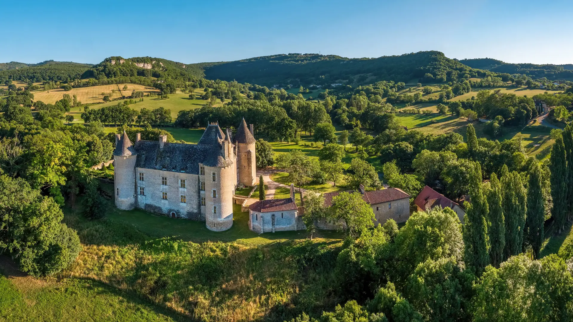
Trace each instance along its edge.
{"label": "third from left in the row of tall poplars at right", "polygon": [[523,249],[527,193],[519,173],[515,171],[509,173],[507,165],[501,168],[501,191],[505,218],[504,258],[508,259],[518,255]]}

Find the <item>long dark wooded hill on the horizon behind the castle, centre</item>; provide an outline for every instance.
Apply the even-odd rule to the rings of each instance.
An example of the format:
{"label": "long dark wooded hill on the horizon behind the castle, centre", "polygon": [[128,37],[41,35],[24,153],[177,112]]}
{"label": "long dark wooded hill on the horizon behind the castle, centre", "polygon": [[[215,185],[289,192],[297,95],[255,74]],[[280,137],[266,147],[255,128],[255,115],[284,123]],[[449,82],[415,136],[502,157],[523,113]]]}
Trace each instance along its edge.
{"label": "long dark wooded hill on the horizon behind the castle, centre", "polygon": [[[337,55],[278,54],[221,63],[193,64],[208,79],[235,79],[241,83],[311,85],[348,82],[370,84],[380,80],[407,82],[426,73],[434,77],[469,67],[439,51],[419,51],[378,58],[347,58]],[[445,80],[445,78],[444,78]]]}

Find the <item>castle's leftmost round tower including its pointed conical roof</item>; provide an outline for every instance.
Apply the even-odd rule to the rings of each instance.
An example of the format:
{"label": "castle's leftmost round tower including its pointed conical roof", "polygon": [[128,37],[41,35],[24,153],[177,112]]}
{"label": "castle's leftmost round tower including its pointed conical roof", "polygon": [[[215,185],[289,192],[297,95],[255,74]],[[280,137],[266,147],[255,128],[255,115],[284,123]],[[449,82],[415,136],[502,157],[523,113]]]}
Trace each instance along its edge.
{"label": "castle's leftmost round tower including its pointed conical roof", "polygon": [[135,161],[137,152],[127,133],[116,134],[114,162],[114,194],[115,206],[123,210],[135,208]]}

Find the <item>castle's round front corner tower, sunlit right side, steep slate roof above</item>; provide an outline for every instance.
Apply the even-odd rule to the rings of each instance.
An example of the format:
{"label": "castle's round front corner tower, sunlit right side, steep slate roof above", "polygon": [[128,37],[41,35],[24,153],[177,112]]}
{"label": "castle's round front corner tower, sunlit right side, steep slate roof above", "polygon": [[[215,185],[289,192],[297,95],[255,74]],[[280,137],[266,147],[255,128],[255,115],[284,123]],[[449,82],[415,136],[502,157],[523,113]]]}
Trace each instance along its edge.
{"label": "castle's round front corner tower, sunlit right side, steep slate roof above", "polygon": [[204,170],[199,177],[205,182],[205,225],[216,232],[233,226],[235,164],[233,145],[225,137],[217,124],[210,124],[199,140],[199,144],[211,145],[207,157],[199,164]]}

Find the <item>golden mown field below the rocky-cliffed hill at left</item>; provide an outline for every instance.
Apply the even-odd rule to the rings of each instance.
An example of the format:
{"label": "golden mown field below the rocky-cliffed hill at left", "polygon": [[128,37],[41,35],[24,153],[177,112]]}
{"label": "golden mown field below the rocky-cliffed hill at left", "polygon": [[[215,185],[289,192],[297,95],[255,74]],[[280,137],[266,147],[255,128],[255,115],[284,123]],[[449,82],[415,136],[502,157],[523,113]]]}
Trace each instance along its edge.
{"label": "golden mown field below the rocky-cliffed hill at left", "polygon": [[[123,90],[123,86],[127,85],[127,90]],[[111,95],[112,90],[113,95],[111,99],[121,97],[121,93],[123,96],[130,96],[132,90],[136,90],[137,92],[144,92],[146,94],[149,93],[159,93],[159,91],[155,88],[149,86],[143,86],[138,84],[112,84],[112,85],[97,85],[97,86],[87,86],[83,88],[73,88],[71,90],[63,90],[61,88],[52,89],[52,90],[36,90],[32,92],[34,94],[34,101],[42,101],[46,104],[54,104],[56,101],[59,101],[64,97],[64,94],[69,94],[70,97],[76,95],[77,100],[80,101],[82,104],[92,104],[92,103],[103,103],[103,95],[101,93],[105,93],[106,95]],[[117,102],[116,102],[117,104]]]}

